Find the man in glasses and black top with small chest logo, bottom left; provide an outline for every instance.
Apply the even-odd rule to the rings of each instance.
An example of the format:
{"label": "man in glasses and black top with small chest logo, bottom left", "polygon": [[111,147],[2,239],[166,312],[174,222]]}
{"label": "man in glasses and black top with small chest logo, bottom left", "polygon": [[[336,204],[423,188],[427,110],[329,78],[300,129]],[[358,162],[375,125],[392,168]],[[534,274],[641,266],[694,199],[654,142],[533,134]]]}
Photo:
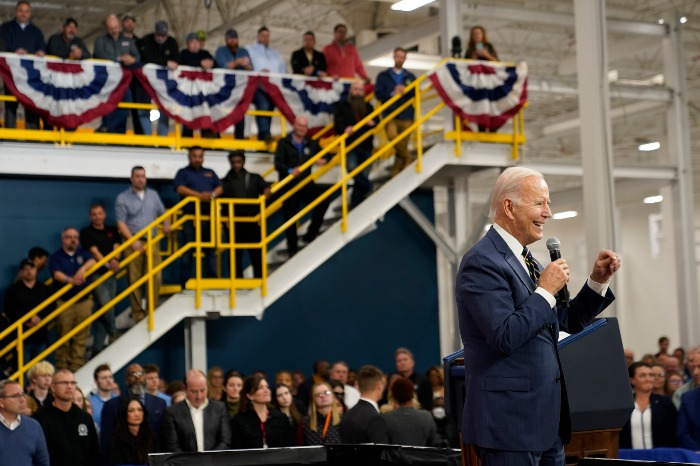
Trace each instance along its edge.
{"label": "man in glasses and black top with small chest logo, bottom left", "polygon": [[51,466],[100,464],[97,430],[92,417],[73,403],[76,388],[71,371],[56,370],[51,380],[54,400],[34,415],[44,431]]}

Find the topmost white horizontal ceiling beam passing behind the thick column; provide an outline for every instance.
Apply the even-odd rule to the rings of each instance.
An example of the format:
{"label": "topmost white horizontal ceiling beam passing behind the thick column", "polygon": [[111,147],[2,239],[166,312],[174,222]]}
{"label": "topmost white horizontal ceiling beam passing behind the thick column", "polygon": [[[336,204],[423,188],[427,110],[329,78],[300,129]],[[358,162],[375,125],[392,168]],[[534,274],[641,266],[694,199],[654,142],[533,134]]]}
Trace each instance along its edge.
{"label": "topmost white horizontal ceiling beam passing behind the thick column", "polygon": [[[479,16],[481,18],[507,19],[510,21],[524,21],[541,24],[558,24],[566,27],[574,26],[574,15],[567,13],[552,13],[540,9],[524,9],[514,7],[500,7],[493,5],[463,5],[462,13],[465,16]],[[626,34],[644,34],[664,37],[668,34],[666,26],[655,23],[643,23],[640,21],[607,20],[608,32]]]}

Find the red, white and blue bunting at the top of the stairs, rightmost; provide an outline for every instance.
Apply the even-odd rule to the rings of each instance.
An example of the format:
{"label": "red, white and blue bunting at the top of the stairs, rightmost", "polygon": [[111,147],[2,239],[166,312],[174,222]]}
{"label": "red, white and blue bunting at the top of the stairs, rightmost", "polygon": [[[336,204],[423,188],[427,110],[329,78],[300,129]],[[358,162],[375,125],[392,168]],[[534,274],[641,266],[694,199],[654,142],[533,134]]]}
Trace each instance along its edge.
{"label": "red, white and blue bunting at the top of the stairs, rightmost", "polygon": [[497,130],[527,101],[527,64],[448,61],[428,77],[445,103],[462,118]]}

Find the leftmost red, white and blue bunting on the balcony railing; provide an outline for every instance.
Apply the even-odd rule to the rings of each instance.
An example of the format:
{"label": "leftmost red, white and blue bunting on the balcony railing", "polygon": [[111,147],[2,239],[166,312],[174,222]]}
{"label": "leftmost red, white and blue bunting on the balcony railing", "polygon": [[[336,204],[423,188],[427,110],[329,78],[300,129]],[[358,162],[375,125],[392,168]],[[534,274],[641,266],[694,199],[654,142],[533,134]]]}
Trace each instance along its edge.
{"label": "leftmost red, white and blue bunting on the balcony railing", "polygon": [[7,89],[47,123],[74,129],[112,112],[131,81],[121,64],[0,53]]}

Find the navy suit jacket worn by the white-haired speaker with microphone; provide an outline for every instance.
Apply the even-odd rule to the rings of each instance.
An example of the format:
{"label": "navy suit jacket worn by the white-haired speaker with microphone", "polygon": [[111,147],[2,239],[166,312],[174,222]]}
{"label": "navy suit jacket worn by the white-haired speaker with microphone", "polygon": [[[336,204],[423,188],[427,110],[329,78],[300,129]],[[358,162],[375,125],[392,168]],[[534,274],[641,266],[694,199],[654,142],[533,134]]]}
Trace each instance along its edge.
{"label": "navy suit jacket worn by the white-haired speaker with microphone", "polygon": [[[540,267],[541,268],[541,267]],[[493,227],[462,259],[455,285],[464,344],[462,441],[544,451],[571,435],[559,330],[577,333],[614,299],[584,285],[570,309],[552,310]],[[560,422],[561,421],[561,422]]]}

